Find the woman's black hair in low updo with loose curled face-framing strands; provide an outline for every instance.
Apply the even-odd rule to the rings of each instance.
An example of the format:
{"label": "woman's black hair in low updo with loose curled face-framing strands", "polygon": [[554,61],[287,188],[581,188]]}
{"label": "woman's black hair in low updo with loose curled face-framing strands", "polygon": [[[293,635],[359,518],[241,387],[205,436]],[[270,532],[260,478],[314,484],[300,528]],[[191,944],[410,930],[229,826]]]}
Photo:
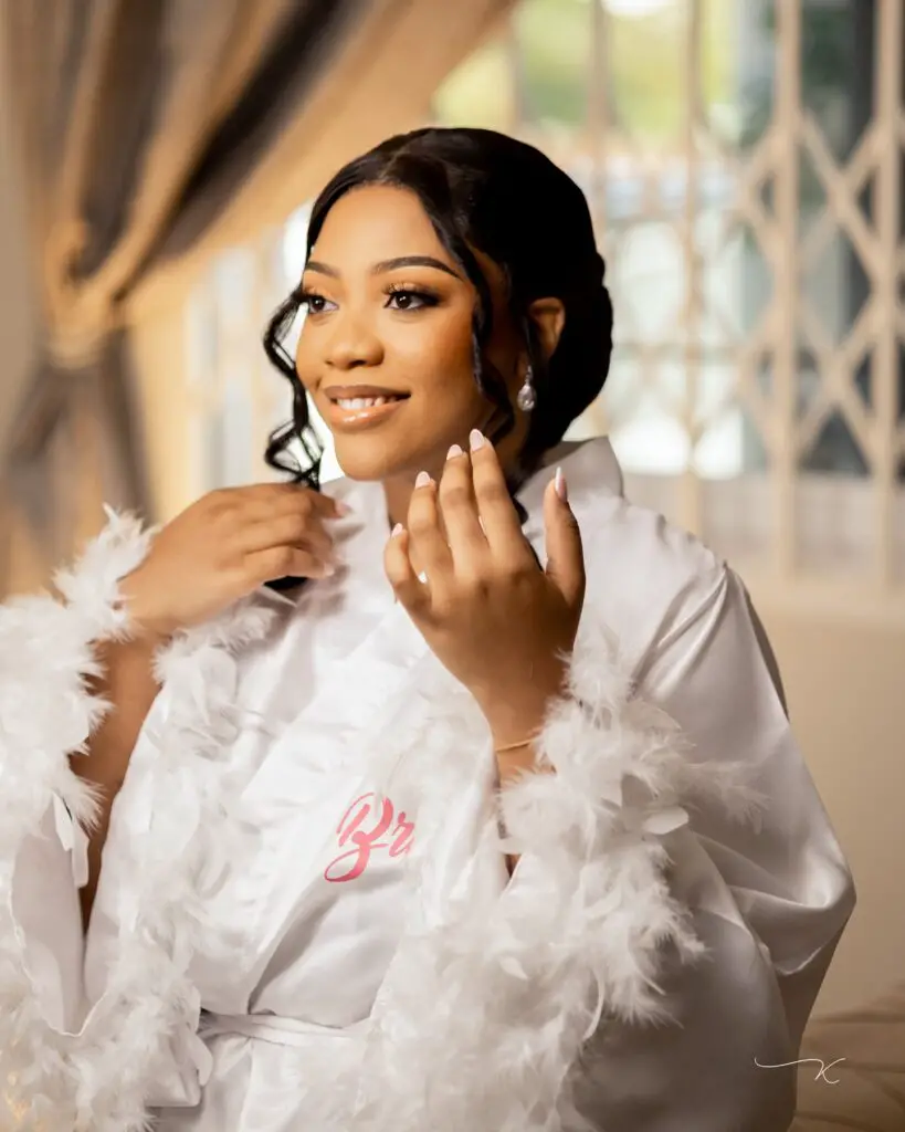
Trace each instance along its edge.
{"label": "woman's black hair in low updo with loose curled face-framing strands", "polygon": [[[509,475],[512,496],[559,444],[569,424],[595,400],[610,368],[613,314],[604,285],[587,201],[579,187],[540,149],[493,130],[430,127],[381,143],[339,170],[313,204],[305,255],[310,255],[330,208],[352,189],[395,185],[415,192],[449,255],[479,294],[472,344],[474,379],[499,410],[495,444],[515,424],[501,375],[484,348],[492,328],[490,288],[472,251],[502,271],[509,309],[520,327],[534,371],[536,403],[518,464]],[[527,315],[534,299],[555,297],[566,323],[553,357],[545,361]],[[322,446],[311,427],[304,387],[283,342],[301,306],[296,289],[277,309],[264,338],[270,361],[292,385],[292,420],[276,429],[267,464],[319,490]],[[308,464],[290,451],[300,445]],[[526,515],[515,500],[524,523]],[[277,589],[296,580],[272,583]]]}

